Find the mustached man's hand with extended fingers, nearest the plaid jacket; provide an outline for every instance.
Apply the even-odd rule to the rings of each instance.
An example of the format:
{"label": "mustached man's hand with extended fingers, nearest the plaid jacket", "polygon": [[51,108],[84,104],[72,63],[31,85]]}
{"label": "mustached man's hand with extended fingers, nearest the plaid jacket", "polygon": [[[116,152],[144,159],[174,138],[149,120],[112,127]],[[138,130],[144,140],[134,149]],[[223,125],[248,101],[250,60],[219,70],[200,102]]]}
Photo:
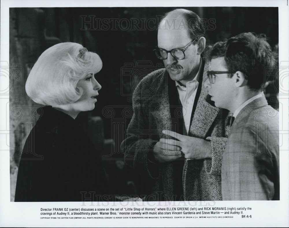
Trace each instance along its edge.
{"label": "mustached man's hand with extended fingers, nearest the plaid jacket", "polygon": [[184,136],[173,131],[163,130],[163,134],[178,139],[161,138],[160,143],[166,147],[179,147],[187,159],[204,159],[212,158],[212,145],[210,141],[191,136]]}

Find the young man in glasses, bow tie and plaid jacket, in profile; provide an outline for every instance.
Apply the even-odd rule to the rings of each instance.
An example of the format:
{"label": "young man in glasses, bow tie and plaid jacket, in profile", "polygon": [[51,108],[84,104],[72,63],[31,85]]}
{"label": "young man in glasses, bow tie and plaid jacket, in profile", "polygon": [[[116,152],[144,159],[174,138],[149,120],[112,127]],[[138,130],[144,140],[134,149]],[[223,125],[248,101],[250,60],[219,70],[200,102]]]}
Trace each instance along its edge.
{"label": "young man in glasses, bow tie and plaid jacket, in profile", "polygon": [[233,113],[223,154],[223,200],[279,200],[279,113],[262,92],[275,63],[261,36],[242,33],[216,43],[205,86],[215,106]]}

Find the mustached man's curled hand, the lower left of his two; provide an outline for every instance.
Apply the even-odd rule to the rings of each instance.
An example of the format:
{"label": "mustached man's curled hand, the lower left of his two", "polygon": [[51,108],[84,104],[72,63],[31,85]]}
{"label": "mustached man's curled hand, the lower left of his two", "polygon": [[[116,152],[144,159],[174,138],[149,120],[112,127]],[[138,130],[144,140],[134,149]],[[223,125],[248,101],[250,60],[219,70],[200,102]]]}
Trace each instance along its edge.
{"label": "mustached man's curled hand, the lower left of his two", "polygon": [[181,157],[180,148],[168,143],[157,142],[153,152],[157,162],[170,162]]}

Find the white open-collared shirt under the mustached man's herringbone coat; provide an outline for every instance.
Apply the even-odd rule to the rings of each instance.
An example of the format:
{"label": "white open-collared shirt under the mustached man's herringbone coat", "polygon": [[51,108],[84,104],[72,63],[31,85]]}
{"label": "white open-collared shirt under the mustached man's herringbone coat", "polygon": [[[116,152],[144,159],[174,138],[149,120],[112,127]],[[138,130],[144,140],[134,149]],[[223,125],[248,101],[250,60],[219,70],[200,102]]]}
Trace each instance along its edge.
{"label": "white open-collared shirt under the mustached man's herringbone coat", "polygon": [[191,121],[191,115],[192,115],[192,109],[194,106],[194,100],[197,94],[197,88],[199,85],[199,78],[200,78],[200,71],[202,68],[202,59],[200,61],[199,71],[197,75],[194,77],[192,81],[188,81],[186,83],[186,86],[182,86],[179,84],[178,81],[175,81],[175,84],[177,86],[178,92],[179,92],[179,99],[181,101],[181,104],[183,106],[183,118],[184,118],[184,124],[186,128],[186,135],[188,135],[189,129],[190,129],[190,121]]}

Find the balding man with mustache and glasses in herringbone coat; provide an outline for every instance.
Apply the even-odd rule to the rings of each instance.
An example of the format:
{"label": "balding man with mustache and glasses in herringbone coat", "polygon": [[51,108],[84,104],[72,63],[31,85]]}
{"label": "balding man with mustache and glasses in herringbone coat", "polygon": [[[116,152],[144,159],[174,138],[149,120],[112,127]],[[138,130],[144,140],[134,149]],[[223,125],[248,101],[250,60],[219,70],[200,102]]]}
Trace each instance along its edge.
{"label": "balding man with mustache and glasses in herringbone coat", "polygon": [[229,128],[227,112],[205,101],[205,43],[202,21],[192,11],[173,10],[159,24],[155,54],[166,68],[144,77],[135,89],[134,115],[122,143],[145,200],[222,199],[221,159]]}

